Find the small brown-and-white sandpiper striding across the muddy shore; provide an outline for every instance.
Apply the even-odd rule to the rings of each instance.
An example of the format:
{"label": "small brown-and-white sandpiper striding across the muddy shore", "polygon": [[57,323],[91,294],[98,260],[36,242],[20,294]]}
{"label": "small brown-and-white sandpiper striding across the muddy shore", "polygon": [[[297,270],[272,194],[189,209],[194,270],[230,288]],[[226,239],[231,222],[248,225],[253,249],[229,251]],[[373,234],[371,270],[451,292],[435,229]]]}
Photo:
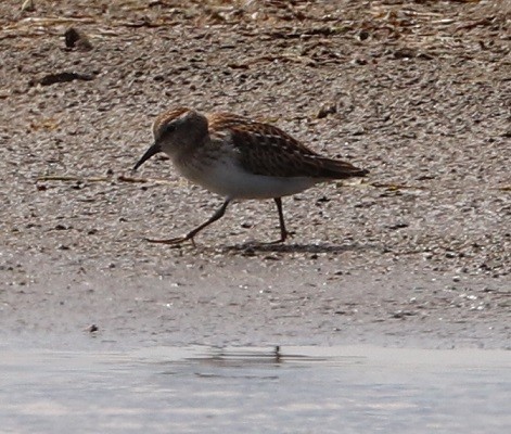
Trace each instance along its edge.
{"label": "small brown-and-white sandpiper striding across the muddy shore", "polygon": [[154,144],[133,170],[164,152],[184,178],[225,197],[204,224],[182,237],[148,240],[154,243],[193,243],[200,231],[223,216],[231,201],[247,199],[273,199],[280,222],[280,239],[273,243],[281,243],[290,234],[282,214],[282,196],[319,182],[368,174],[349,163],[319,155],[272,125],[231,113],[173,108],[156,117],[153,135]]}

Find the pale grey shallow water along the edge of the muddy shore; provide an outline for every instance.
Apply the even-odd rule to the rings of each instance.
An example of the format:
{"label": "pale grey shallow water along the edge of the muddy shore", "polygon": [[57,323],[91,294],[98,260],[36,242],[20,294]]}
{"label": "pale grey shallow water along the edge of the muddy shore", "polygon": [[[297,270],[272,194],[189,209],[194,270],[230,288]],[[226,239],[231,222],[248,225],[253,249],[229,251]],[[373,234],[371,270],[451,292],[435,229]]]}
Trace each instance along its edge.
{"label": "pale grey shallow water along the edge of the muddy shore", "polygon": [[1,433],[509,433],[511,352],[1,348]]}

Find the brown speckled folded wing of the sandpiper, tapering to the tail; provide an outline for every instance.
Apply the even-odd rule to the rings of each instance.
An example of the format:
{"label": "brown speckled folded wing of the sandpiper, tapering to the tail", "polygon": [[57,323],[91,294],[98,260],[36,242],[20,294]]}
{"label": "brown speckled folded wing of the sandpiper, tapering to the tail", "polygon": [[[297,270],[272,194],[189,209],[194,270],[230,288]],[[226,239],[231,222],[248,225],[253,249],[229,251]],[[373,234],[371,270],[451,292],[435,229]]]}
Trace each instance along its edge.
{"label": "brown speckled folded wing of the sandpiper, tapering to the tail", "polygon": [[272,125],[223,113],[212,117],[209,126],[217,133],[230,132],[242,166],[256,175],[343,179],[368,173],[323,157]]}

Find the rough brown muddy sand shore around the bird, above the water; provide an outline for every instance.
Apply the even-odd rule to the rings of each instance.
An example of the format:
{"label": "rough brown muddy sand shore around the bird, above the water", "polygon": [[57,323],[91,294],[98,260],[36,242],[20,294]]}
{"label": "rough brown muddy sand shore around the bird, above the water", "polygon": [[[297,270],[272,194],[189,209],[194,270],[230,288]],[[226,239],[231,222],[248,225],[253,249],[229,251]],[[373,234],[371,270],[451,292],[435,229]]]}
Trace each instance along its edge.
{"label": "rough brown muddy sand shore around the bird, above the water", "polygon": [[[0,5],[3,340],[511,347],[509,2],[53,3]],[[285,199],[284,245],[271,201],[149,244],[221,203],[163,157],[130,178],[174,105],[370,177]]]}

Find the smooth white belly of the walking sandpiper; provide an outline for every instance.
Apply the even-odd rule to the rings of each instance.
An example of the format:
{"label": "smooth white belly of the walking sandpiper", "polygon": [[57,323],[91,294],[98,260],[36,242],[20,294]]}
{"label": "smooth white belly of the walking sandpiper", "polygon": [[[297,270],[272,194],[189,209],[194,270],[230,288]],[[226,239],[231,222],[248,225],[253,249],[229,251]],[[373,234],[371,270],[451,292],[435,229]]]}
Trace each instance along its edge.
{"label": "smooth white belly of the walking sandpiper", "polygon": [[299,193],[321,180],[309,177],[270,177],[244,171],[230,161],[212,166],[176,165],[190,181],[229,199],[272,199]]}

